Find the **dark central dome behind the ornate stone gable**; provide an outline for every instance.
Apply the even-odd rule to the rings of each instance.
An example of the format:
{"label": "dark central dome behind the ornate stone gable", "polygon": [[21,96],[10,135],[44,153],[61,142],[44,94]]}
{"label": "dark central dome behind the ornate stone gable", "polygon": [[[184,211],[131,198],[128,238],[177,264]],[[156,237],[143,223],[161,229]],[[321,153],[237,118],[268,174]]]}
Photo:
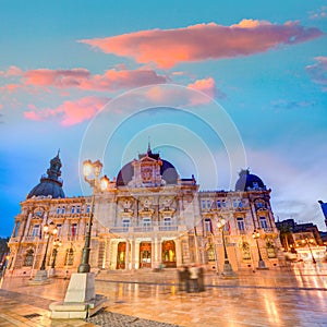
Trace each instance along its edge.
{"label": "dark central dome behind the ornate stone gable", "polygon": [[[159,154],[153,154],[150,147],[144,155],[138,155],[138,160],[144,157],[152,158],[158,162],[160,162],[160,175],[162,180],[165,180],[166,184],[177,184],[178,183],[178,172],[172,164],[167,160],[160,158]],[[132,181],[134,175],[134,161],[130,161],[119,171],[116,180],[117,186],[125,186]]]}

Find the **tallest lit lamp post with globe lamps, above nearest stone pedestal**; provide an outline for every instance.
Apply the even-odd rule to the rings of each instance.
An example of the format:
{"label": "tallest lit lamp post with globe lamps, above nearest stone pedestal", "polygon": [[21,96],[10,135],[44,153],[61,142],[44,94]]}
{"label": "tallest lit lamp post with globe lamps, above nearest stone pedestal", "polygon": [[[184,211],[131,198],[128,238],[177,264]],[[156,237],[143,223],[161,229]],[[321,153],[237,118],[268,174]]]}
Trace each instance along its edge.
{"label": "tallest lit lamp post with globe lamps, above nearest stone pedestal", "polygon": [[[92,223],[93,223],[93,216],[94,216],[94,206],[95,206],[95,194],[97,190],[100,187],[101,190],[106,190],[108,186],[108,178],[104,175],[99,181],[99,174],[102,169],[102,164],[97,160],[92,162],[90,160],[86,160],[83,162],[83,173],[85,181],[93,187],[92,194],[92,202],[90,202],[90,211],[89,211],[89,219],[88,219],[88,228],[85,234],[85,243],[83,247],[82,254],[82,263],[78,266],[78,272],[89,272],[90,265],[89,265],[89,251],[90,251],[90,233],[92,233]],[[90,179],[89,175],[94,174],[94,178]]]}

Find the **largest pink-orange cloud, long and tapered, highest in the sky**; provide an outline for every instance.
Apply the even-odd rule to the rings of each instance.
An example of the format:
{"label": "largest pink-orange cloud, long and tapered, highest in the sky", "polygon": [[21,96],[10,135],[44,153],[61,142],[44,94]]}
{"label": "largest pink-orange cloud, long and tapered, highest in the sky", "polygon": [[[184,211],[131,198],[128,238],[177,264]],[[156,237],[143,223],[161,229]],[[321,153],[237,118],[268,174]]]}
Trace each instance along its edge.
{"label": "largest pink-orange cloud, long and tapered, highest in the sky", "polygon": [[303,43],[322,34],[317,28],[304,28],[294,22],[278,25],[243,20],[231,26],[198,24],[80,41],[106,53],[130,57],[140,63],[153,62],[159,68],[169,69],[180,62],[250,56],[280,45]]}

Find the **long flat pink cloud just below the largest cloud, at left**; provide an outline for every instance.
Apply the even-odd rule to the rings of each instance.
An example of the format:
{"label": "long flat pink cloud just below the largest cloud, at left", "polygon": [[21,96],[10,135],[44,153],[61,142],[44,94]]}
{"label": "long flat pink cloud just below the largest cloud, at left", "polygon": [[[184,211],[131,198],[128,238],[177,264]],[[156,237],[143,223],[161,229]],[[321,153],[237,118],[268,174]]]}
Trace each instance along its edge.
{"label": "long flat pink cloud just below the largest cloud, at left", "polygon": [[34,86],[55,86],[83,90],[117,90],[166,83],[166,76],[153,70],[108,70],[102,75],[92,75],[86,69],[48,70],[39,69],[24,73],[24,83]]}

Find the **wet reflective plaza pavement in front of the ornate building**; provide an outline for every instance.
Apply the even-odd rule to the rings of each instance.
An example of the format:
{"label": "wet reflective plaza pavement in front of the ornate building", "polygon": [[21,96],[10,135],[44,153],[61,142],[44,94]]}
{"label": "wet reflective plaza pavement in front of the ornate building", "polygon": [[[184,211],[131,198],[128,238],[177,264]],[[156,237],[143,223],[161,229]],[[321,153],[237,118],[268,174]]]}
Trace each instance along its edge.
{"label": "wet reflective plaza pavement in front of the ornate building", "polygon": [[101,271],[96,292],[106,308],[86,320],[51,320],[49,304],[64,296],[68,280],[44,286],[7,275],[0,284],[4,326],[326,326],[327,264],[296,263],[239,272],[237,279],[205,275],[205,291],[180,292],[175,269]]}

